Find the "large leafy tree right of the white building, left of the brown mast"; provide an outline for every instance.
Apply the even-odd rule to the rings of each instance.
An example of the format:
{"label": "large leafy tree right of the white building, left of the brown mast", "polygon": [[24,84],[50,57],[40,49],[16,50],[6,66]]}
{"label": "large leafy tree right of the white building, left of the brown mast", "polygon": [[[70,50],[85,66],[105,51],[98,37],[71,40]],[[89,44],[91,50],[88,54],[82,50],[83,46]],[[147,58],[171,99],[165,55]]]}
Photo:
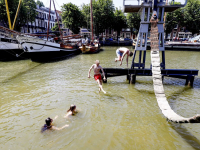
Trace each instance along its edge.
{"label": "large leafy tree right of the white building, left of the brown mast", "polygon": [[80,28],[85,24],[83,13],[72,3],[64,4],[62,12],[65,27],[69,28],[74,34],[78,34]]}

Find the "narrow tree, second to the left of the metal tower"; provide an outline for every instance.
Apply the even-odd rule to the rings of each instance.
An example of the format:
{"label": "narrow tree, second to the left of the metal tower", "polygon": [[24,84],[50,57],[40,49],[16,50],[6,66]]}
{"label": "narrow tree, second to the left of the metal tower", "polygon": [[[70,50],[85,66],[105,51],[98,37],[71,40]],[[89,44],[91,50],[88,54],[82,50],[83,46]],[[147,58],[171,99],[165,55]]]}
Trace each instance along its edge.
{"label": "narrow tree, second to the left of the metal tower", "polygon": [[126,16],[122,12],[122,10],[118,10],[118,8],[116,8],[115,13],[114,13],[113,28],[114,28],[114,30],[117,31],[117,40],[118,40],[120,31],[122,30],[122,28],[126,28],[126,27],[127,27]]}

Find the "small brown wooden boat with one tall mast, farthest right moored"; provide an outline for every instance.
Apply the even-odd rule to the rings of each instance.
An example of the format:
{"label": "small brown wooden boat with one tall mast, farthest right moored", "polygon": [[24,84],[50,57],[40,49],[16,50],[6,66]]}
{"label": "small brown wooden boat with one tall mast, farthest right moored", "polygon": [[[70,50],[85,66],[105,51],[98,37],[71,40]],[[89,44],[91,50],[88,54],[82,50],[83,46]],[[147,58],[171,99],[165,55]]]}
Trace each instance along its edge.
{"label": "small brown wooden boat with one tall mast, farthest right moored", "polygon": [[82,51],[83,54],[93,54],[98,53],[100,51],[100,43],[98,41],[94,42],[94,33],[93,33],[93,13],[92,13],[92,0],[90,0],[90,26],[91,26],[91,43],[88,44],[82,44],[82,46],[79,47],[79,49]]}

